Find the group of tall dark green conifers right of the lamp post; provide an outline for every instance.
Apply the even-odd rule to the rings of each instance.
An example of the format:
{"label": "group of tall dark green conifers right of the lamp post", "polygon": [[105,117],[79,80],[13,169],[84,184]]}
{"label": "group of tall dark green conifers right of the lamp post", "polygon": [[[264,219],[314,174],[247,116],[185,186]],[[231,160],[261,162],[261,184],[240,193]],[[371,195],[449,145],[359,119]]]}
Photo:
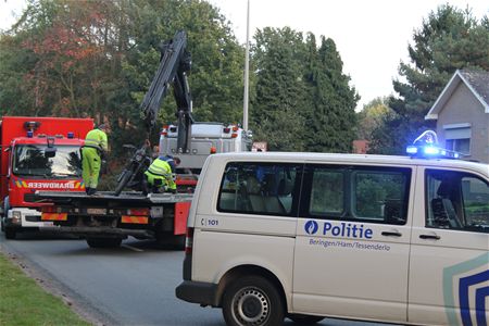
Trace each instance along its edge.
{"label": "group of tall dark green conifers right of the lamp post", "polygon": [[251,122],[271,150],[348,152],[358,96],[331,39],[289,27],[255,35],[256,92]]}

